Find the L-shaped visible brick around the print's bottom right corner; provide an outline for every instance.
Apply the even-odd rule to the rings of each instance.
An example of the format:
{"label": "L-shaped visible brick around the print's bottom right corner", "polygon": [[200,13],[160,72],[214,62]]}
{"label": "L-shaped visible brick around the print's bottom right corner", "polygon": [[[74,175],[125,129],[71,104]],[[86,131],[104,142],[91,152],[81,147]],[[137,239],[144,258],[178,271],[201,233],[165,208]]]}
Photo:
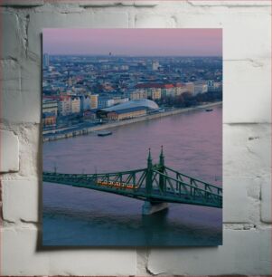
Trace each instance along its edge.
{"label": "L-shaped visible brick around the print's bottom right corner", "polygon": [[261,275],[271,272],[271,229],[224,230],[223,246],[152,249],[147,270],[164,275]]}

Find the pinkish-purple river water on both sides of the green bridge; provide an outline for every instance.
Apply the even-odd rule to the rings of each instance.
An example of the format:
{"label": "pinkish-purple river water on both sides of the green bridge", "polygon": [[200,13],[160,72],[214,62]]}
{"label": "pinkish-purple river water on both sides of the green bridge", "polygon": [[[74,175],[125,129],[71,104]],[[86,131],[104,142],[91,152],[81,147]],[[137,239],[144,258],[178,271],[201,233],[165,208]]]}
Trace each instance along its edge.
{"label": "pinkish-purple river water on both sides of the green bridge", "polygon": [[[102,173],[146,167],[164,146],[168,167],[211,184],[222,183],[222,108],[192,110],[95,134],[43,144],[43,170]],[[43,245],[185,246],[222,244],[222,210],[169,204],[142,215],[143,201],[43,183]]]}

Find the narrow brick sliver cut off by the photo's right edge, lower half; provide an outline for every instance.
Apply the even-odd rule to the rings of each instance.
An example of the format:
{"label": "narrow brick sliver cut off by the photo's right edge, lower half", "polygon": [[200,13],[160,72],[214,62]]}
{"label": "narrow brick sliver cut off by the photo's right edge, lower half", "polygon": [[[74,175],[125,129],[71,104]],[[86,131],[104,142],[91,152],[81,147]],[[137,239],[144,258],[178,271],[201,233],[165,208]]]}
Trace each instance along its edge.
{"label": "narrow brick sliver cut off by the photo's right edge, lower half", "polygon": [[262,222],[271,224],[271,175],[262,177],[260,209]]}

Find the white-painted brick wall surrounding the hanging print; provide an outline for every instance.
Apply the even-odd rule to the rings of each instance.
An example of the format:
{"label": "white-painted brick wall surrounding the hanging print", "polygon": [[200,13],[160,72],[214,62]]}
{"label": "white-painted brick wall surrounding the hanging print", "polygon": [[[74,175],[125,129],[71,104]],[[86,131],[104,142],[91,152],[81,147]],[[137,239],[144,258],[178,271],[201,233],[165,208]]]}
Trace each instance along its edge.
{"label": "white-painted brick wall surrounding the hanging print", "polygon": [[[271,2],[1,1],[2,275],[271,272]],[[224,244],[38,248],[41,32],[49,27],[223,28]],[[41,211],[40,211],[41,212]]]}

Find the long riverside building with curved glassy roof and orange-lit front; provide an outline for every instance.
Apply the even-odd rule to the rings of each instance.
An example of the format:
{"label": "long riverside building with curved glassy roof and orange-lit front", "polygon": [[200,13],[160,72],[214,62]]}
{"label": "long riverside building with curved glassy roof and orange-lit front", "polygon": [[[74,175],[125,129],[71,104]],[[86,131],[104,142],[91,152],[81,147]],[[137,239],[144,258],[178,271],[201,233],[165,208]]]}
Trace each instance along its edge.
{"label": "long riverside building with curved glassy roof and orange-lit front", "polygon": [[111,120],[134,119],[145,116],[148,111],[159,110],[153,100],[130,100],[106,109],[98,110],[98,118]]}

